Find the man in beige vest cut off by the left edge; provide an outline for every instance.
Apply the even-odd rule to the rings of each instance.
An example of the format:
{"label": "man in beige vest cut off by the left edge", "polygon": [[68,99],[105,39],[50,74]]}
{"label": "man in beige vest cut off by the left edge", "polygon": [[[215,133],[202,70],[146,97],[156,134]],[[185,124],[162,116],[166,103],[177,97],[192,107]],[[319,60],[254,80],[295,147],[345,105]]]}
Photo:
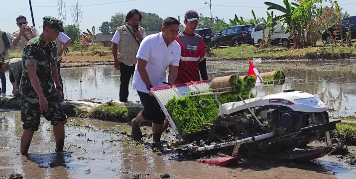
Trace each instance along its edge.
{"label": "man in beige vest cut off by the left edge", "polygon": [[[8,60],[8,49],[10,48],[10,41],[7,38],[6,32],[0,29],[0,61]],[[0,97],[6,95],[6,78],[5,73],[0,71],[1,88]]]}

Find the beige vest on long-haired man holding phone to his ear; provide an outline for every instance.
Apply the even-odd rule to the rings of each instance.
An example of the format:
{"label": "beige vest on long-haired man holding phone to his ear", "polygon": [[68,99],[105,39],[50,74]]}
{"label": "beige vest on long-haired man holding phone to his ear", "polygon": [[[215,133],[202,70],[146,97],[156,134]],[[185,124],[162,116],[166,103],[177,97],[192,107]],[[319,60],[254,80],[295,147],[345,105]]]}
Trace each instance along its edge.
{"label": "beige vest on long-haired man holding phone to his ear", "polygon": [[[138,51],[138,43],[136,42],[135,38],[133,35],[128,31],[128,28],[130,28],[131,32],[132,27],[129,25],[122,25],[119,26],[117,29],[119,30],[120,33],[120,42],[119,42],[119,62],[124,63],[126,65],[130,64],[136,64],[137,59],[136,59],[136,54]],[[138,27],[138,31],[140,32],[141,36],[143,32],[145,31],[144,28]]]}

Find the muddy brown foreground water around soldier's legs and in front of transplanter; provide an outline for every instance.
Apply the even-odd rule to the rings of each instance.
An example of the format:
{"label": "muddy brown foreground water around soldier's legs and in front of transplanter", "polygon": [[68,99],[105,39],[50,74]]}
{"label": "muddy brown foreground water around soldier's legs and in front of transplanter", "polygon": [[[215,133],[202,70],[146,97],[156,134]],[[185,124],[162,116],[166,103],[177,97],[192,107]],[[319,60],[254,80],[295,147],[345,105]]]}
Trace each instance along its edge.
{"label": "muddy brown foreground water around soldier's legs and in front of transplanter", "polygon": [[[0,176],[16,172],[26,179],[154,179],[168,174],[173,179],[227,178],[356,178],[356,168],[326,156],[311,162],[249,161],[224,168],[200,164],[193,160],[177,160],[178,153],[158,155],[149,144],[135,143],[126,135],[129,126],[98,120],[70,119],[66,124],[66,152],[54,153],[55,143],[50,123],[43,120],[34,137],[29,155],[18,155],[21,121],[17,112],[1,112]],[[142,127],[145,137],[151,130]],[[166,135],[166,134],[165,134]],[[166,136],[164,136],[166,137]],[[182,159],[182,158],[180,158]]]}

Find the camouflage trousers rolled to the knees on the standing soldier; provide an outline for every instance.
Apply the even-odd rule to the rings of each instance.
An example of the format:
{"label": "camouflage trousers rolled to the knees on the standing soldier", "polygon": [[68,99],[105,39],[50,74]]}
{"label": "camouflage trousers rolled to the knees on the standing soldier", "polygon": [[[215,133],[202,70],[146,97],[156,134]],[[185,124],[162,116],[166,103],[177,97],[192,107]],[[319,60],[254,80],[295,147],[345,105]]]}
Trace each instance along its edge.
{"label": "camouflage trousers rolled to the knees on the standing soldier", "polygon": [[23,122],[23,129],[37,131],[41,114],[44,118],[51,121],[51,125],[65,124],[67,122],[58,95],[46,99],[48,102],[47,112],[39,110],[39,102],[31,103],[25,95],[21,96],[21,121]]}

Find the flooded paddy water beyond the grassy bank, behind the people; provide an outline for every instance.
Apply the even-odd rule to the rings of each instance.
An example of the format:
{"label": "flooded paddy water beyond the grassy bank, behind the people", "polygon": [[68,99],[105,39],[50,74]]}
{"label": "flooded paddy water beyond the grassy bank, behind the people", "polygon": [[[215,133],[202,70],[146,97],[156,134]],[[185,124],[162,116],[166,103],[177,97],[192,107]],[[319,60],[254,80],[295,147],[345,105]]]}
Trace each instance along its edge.
{"label": "flooded paddy water beyond the grassy bank, behind the people", "polygon": [[[230,74],[246,75],[247,61],[209,61],[209,79]],[[263,60],[255,63],[260,73],[282,70],[292,83],[254,91],[258,96],[283,91],[303,90],[320,97],[331,116],[356,115],[356,60]],[[119,99],[119,72],[112,66],[62,69],[64,96],[70,100],[90,99],[105,102]],[[10,89],[12,89],[10,87]],[[129,84],[128,100],[139,100]]]}

